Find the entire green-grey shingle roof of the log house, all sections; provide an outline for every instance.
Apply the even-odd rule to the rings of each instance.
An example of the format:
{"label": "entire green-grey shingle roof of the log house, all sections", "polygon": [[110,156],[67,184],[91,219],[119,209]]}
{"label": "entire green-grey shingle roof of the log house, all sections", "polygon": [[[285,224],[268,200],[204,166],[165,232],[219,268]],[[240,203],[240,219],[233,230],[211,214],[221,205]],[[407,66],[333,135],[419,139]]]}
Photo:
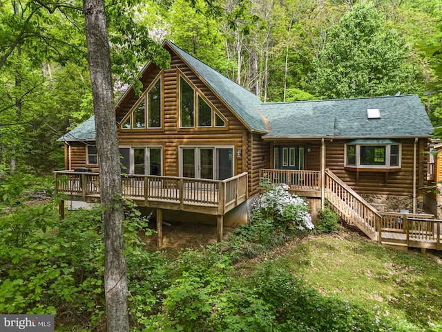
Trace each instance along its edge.
{"label": "entire green-grey shingle roof of the log house, all sections", "polygon": [[[249,130],[265,134],[265,139],[429,137],[433,131],[418,95],[262,104],[172,42],[164,46],[181,57]],[[379,109],[381,118],[368,119],[367,109]],[[94,117],[58,140],[95,140]]]}

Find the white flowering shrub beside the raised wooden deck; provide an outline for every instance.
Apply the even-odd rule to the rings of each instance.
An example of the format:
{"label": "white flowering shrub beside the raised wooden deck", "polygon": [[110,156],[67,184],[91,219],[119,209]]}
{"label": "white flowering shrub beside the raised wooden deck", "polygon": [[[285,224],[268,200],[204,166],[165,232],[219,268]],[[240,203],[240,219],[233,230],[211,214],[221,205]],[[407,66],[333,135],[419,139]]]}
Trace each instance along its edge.
{"label": "white flowering shrub beside the raised wooden deck", "polygon": [[251,221],[271,221],[277,230],[313,230],[307,201],[287,191],[285,184],[270,183],[262,178],[260,188],[265,192],[253,201]]}

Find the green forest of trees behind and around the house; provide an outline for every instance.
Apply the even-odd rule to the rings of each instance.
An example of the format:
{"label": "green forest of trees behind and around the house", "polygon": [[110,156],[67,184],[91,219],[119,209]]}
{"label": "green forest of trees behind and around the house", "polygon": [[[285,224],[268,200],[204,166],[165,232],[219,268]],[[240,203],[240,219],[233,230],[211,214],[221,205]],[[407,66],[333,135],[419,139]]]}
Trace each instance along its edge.
{"label": "green forest of trees behind and around the house", "polygon": [[[417,93],[442,124],[441,94],[425,94],[441,0],[106,1],[106,15],[115,98],[149,60],[167,65],[170,39],[263,102]],[[0,178],[61,169],[56,139],[93,114],[81,2],[1,1],[0,22]]]}

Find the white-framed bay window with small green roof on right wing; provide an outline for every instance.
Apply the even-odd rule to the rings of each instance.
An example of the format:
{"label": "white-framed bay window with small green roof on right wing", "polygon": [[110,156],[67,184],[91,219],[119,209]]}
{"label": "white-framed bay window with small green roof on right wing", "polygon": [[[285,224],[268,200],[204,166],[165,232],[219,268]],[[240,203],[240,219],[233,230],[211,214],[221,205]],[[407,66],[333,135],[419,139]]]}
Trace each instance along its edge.
{"label": "white-framed bay window with small green roof on right wing", "polygon": [[401,144],[390,140],[349,142],[345,145],[345,166],[379,169],[401,167]]}

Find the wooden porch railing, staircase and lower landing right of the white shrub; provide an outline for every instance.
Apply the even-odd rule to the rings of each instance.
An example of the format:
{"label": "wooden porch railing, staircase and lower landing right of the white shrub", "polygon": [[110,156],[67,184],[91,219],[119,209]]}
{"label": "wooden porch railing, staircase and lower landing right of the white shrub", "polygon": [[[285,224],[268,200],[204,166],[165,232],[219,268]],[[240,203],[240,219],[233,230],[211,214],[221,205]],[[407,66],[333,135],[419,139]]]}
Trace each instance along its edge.
{"label": "wooden porch railing, staircase and lower landing right of the white shrub", "polygon": [[324,176],[319,171],[260,169],[260,177],[269,178],[271,183],[285,183],[298,196],[323,197],[341,219],[373,241],[396,248],[442,250],[442,220],[432,214],[380,212],[329,169],[325,169]]}

